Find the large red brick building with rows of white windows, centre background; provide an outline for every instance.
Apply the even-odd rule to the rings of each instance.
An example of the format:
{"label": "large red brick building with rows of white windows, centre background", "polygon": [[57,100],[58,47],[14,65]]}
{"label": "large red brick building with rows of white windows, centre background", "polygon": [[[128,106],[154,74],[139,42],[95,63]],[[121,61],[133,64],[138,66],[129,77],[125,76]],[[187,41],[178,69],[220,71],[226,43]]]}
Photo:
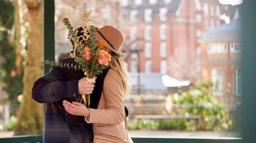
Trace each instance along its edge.
{"label": "large red brick building with rows of white windows, centre background", "polygon": [[[224,23],[224,12],[218,0],[123,0],[126,60],[131,72],[141,75],[140,83],[134,77],[134,87],[164,90],[161,80],[150,79],[164,74],[197,81],[199,40],[203,31]],[[147,86],[150,81],[154,84]]]}

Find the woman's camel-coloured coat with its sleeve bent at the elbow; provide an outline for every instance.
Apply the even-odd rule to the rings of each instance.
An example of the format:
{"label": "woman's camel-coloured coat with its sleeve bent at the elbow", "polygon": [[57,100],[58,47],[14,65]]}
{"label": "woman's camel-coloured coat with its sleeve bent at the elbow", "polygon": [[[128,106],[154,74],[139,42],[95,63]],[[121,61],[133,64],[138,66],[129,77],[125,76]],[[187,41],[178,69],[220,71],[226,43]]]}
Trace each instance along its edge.
{"label": "woman's camel-coloured coat with its sleeve bent at the elbow", "polygon": [[90,117],[84,117],[87,123],[94,123],[97,135],[108,134],[127,140],[123,100],[121,77],[113,69],[109,69],[104,80],[98,108],[89,108]]}

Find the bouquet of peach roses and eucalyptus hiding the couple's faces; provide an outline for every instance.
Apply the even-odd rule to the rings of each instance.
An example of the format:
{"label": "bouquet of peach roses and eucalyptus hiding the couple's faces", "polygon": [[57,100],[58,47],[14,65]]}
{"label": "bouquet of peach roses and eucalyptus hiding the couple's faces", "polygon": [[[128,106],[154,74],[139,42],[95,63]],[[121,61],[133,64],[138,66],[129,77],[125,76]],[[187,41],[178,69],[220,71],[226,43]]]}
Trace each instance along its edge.
{"label": "bouquet of peach roses and eucalyptus hiding the couple's faces", "polygon": [[[95,34],[96,30],[94,26],[87,26],[89,21],[90,12],[84,11],[81,14],[80,21],[84,20],[84,24],[77,24],[76,28],[81,26],[82,31],[74,31],[73,26],[71,26],[68,18],[64,18],[63,23],[69,29],[67,35],[69,44],[73,45],[75,48],[73,53],[67,50],[70,53],[72,58],[75,58],[76,65],[73,63],[56,63],[55,61],[41,61],[41,63],[49,64],[51,66],[60,66],[67,67],[68,69],[74,68],[75,70],[83,70],[84,74],[87,77],[88,82],[93,82],[95,77],[101,75],[103,70],[109,67],[109,63],[115,59],[115,56],[111,56],[109,51],[105,51],[106,41],[96,41]],[[90,33],[87,30],[90,29]],[[79,33],[83,32],[79,36]],[[80,38],[80,40],[79,40]],[[82,40],[81,40],[82,38]],[[90,94],[81,95],[77,102],[83,103],[85,106],[90,106]]]}

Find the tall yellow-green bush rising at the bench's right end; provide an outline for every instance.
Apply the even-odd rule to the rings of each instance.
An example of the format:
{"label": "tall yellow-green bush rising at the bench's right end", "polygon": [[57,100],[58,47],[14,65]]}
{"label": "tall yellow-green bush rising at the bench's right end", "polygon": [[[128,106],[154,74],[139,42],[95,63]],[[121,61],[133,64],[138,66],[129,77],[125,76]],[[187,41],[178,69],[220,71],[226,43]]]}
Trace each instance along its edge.
{"label": "tall yellow-green bush rising at the bench's right end", "polygon": [[227,130],[231,126],[228,108],[214,99],[211,82],[203,82],[195,86],[196,93],[183,92],[178,99],[173,97],[174,104],[192,105],[183,107],[180,114],[199,115],[201,122],[197,126],[201,130]]}

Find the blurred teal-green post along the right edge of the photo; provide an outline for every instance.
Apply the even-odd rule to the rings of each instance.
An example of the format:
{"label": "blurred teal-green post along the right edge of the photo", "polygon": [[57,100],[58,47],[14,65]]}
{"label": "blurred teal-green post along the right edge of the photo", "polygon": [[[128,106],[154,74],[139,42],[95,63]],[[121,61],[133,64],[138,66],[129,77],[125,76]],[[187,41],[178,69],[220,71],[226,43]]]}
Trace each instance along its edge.
{"label": "blurred teal-green post along the right edge of the photo", "polygon": [[242,4],[242,137],[244,143],[256,143],[256,0]]}

